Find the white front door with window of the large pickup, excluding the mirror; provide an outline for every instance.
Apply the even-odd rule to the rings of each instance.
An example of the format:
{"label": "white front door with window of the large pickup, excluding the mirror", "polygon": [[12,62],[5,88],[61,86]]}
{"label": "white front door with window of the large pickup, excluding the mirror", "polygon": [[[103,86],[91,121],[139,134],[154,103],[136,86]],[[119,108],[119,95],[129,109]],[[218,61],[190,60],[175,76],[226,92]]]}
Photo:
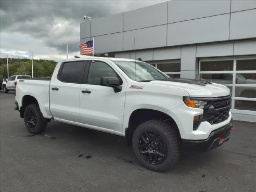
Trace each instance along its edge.
{"label": "white front door with window of the large pickup, excluding the mirror", "polygon": [[103,76],[118,76],[108,63],[91,62],[86,82],[80,88],[81,123],[122,132],[126,81],[122,91],[115,93],[112,87],[101,86]]}

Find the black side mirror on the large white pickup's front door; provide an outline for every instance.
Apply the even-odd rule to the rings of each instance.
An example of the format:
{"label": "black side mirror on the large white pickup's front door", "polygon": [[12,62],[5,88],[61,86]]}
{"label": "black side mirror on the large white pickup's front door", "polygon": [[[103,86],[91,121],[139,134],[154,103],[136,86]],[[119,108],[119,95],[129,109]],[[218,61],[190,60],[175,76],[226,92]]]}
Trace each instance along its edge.
{"label": "black side mirror on the large white pickup's front door", "polygon": [[122,80],[117,78],[116,76],[103,76],[100,78],[100,85],[113,87],[114,92],[121,92],[122,91]]}

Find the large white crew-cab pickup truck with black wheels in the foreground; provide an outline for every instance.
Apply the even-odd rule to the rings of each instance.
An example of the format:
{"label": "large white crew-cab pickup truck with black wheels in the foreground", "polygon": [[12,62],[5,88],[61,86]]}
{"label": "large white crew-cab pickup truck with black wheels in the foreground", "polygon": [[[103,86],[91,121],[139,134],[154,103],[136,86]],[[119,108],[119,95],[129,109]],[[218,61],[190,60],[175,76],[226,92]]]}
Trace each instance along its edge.
{"label": "large white crew-cab pickup truck with black wheels in the foreground", "polygon": [[53,119],[121,135],[154,171],[172,167],[183,151],[222,145],[233,126],[227,87],[171,79],[132,59],[60,61],[51,79],[17,81],[15,99],[30,133],[42,133]]}

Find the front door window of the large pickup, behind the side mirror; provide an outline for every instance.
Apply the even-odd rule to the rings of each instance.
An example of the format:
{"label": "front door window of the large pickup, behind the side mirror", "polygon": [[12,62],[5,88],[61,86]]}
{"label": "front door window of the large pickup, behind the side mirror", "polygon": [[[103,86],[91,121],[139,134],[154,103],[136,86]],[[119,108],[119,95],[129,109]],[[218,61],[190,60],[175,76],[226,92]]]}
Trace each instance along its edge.
{"label": "front door window of the large pickup, behind the side mirror", "polygon": [[101,61],[91,62],[88,72],[88,84],[99,85],[100,78],[103,76],[117,76],[117,73],[107,65],[107,63]]}

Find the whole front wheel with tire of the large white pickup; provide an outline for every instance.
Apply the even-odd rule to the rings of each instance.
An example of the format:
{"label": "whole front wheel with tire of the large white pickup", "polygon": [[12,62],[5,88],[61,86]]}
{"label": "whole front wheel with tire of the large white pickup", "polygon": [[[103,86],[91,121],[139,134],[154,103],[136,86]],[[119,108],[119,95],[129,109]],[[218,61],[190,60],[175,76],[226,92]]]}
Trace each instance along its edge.
{"label": "whole front wheel with tire of the large white pickup", "polygon": [[144,167],[161,172],[180,160],[180,136],[171,123],[149,120],[134,131],[133,150]]}

